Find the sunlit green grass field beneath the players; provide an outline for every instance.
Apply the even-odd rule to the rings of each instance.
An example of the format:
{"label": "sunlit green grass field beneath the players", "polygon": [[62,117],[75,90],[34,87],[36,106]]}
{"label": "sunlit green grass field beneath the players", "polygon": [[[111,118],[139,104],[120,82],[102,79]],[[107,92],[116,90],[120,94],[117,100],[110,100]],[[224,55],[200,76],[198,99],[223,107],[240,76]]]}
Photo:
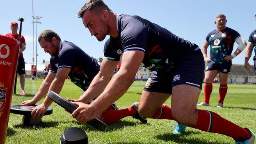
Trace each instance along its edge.
{"label": "sunlit green grass field beneath the players", "polygon": [[[12,105],[32,98],[42,79],[30,81],[26,79],[25,89],[27,96],[18,95],[20,85],[17,82],[17,95],[12,97]],[[34,83],[34,84],[33,84]],[[145,82],[134,82],[127,93],[122,96],[117,105],[119,108],[129,107],[139,101]],[[224,101],[224,108],[216,108],[218,103],[219,85],[213,85],[210,107],[198,107],[217,112],[222,117],[234,123],[247,127],[256,133],[256,86],[255,85],[229,85]],[[64,98],[77,99],[81,89],[70,81],[66,81],[60,93]],[[199,101],[203,100],[203,91]],[[40,103],[43,100],[40,101]],[[170,105],[171,101],[166,101]],[[53,114],[44,116],[38,126],[24,127],[22,115],[10,114],[7,130],[6,144],[59,144],[60,135],[70,127],[85,130],[89,137],[89,144],[234,144],[231,137],[215,133],[206,133],[197,129],[187,128],[183,135],[172,135],[175,127],[174,121],[148,119],[147,124],[140,123],[137,119],[126,117],[117,123],[109,125],[107,131],[101,132],[87,124],[80,124],[72,118],[71,114],[62,107],[53,103]]]}

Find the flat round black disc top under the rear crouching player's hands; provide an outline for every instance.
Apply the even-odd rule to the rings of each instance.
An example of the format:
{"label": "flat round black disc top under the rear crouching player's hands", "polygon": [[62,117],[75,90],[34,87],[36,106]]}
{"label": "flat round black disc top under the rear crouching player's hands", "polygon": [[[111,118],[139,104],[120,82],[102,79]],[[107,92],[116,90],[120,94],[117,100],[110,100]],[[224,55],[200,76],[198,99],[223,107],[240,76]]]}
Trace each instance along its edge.
{"label": "flat round black disc top under the rear crouching player's hands", "polygon": [[[21,115],[31,115],[31,108],[37,105],[11,105],[11,113]],[[53,113],[53,107],[48,107],[47,111],[43,115],[49,115]]]}

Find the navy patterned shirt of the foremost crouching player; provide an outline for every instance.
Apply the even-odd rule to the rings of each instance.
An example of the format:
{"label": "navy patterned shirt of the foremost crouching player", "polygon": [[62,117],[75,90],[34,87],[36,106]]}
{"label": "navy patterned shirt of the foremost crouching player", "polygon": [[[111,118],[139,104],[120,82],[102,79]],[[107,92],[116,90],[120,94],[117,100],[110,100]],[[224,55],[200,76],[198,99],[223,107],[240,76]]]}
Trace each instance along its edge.
{"label": "navy patterned shirt of the foremost crouching player", "polygon": [[110,37],[104,47],[106,59],[119,61],[129,50],[145,53],[142,66],[151,71],[169,71],[188,55],[200,54],[199,47],[169,30],[139,16],[117,16],[118,37]]}

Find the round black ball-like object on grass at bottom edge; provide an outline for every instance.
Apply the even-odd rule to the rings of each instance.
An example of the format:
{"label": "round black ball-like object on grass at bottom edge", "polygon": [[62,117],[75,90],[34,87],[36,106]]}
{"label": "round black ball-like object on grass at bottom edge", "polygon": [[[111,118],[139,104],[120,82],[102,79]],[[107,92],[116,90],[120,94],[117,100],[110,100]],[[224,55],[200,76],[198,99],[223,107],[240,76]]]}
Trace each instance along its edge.
{"label": "round black ball-like object on grass at bottom edge", "polygon": [[71,127],[62,133],[60,144],[88,144],[88,137],[81,128]]}

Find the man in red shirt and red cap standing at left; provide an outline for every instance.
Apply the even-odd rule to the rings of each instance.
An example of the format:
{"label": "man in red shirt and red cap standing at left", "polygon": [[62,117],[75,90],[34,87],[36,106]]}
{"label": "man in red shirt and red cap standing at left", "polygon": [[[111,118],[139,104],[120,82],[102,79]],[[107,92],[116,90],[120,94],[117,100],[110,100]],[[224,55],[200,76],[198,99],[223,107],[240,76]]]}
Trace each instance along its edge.
{"label": "man in red shirt and red cap standing at left", "polygon": [[[7,37],[11,37],[14,39],[18,40],[19,34],[18,34],[18,23],[16,23],[15,21],[11,22],[11,33],[5,34],[5,36]],[[23,37],[23,35],[21,35],[21,47],[20,47],[20,55],[18,58],[18,75],[20,76],[20,83],[21,83],[21,95],[25,96],[26,92],[25,92],[25,61],[23,58],[23,51],[26,49],[26,42],[25,39]]]}

